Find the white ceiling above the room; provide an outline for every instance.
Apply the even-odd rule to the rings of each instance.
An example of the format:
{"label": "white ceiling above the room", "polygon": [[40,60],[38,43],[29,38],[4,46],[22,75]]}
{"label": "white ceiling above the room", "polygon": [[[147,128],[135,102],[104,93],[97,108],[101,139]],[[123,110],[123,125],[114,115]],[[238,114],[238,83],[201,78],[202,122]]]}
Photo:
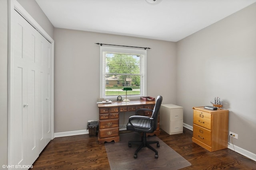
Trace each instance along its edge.
{"label": "white ceiling above the room", "polygon": [[[154,0],[148,0],[154,2]],[[54,27],[179,41],[256,0],[36,0]]]}

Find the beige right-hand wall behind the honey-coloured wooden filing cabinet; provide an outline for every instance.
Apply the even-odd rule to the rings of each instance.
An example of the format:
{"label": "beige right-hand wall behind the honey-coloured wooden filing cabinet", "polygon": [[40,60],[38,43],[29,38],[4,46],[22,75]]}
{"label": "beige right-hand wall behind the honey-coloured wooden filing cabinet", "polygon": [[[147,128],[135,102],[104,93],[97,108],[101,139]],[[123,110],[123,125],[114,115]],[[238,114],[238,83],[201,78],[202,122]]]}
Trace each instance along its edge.
{"label": "beige right-hand wall behind the honey-coloured wooden filing cabinet", "polygon": [[177,104],[193,125],[193,106],[220,97],[234,145],[256,154],[256,3],[177,43]]}

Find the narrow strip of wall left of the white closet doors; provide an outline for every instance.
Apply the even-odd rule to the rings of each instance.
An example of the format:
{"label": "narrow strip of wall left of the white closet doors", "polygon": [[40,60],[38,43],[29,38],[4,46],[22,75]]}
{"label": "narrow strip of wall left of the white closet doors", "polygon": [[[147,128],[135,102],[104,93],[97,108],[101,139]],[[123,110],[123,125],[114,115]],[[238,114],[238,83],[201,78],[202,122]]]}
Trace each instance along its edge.
{"label": "narrow strip of wall left of the white closet doors", "polygon": [[7,165],[7,61],[8,61],[8,3],[0,0],[0,167]]}

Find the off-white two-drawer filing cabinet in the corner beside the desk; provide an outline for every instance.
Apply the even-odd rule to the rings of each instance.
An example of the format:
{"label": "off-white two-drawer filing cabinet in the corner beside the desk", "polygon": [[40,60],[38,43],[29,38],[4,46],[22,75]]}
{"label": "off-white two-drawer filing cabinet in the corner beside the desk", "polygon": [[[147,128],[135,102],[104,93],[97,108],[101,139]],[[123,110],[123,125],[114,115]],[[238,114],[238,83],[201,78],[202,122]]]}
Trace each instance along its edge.
{"label": "off-white two-drawer filing cabinet in the corner beside the desk", "polygon": [[160,128],[169,135],[183,133],[183,107],[162,104],[160,107]]}

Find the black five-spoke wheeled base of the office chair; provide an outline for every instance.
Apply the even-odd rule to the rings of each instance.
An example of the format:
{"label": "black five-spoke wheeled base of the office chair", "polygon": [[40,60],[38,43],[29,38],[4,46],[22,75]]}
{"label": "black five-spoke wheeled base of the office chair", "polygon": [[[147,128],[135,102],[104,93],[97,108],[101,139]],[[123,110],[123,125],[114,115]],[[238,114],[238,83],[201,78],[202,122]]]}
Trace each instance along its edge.
{"label": "black five-spoke wheeled base of the office chair", "polygon": [[143,133],[143,136],[141,137],[141,141],[129,141],[128,147],[132,147],[132,143],[140,144],[140,146],[134,153],[134,156],[133,156],[134,158],[138,157],[138,155],[137,155],[138,152],[140,151],[140,149],[142,149],[144,147],[148,147],[149,149],[153,150],[155,152],[155,158],[158,158],[158,151],[156,149],[154,149],[153,147],[151,147],[150,145],[156,143],[156,146],[160,147],[159,141],[147,141],[146,133]]}

